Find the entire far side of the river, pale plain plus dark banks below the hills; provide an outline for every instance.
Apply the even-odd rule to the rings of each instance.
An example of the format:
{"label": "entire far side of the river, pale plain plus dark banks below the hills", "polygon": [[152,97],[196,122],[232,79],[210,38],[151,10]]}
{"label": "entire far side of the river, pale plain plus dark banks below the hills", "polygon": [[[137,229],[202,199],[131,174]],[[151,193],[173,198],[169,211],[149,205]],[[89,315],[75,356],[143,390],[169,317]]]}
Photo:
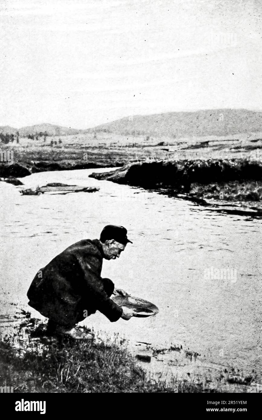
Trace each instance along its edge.
{"label": "entire far side of the river, pale plain plus dark banks below the hills", "polygon": [[[12,144],[13,163],[0,164],[0,180],[21,185],[31,173],[90,168],[121,168],[97,179],[162,189],[170,196],[245,203],[258,213],[262,200],[261,136],[239,134],[172,139],[120,136],[103,132],[56,136]],[[161,141],[160,141],[161,140]],[[3,153],[10,152],[2,144]],[[261,155],[261,156],[260,156]]]}

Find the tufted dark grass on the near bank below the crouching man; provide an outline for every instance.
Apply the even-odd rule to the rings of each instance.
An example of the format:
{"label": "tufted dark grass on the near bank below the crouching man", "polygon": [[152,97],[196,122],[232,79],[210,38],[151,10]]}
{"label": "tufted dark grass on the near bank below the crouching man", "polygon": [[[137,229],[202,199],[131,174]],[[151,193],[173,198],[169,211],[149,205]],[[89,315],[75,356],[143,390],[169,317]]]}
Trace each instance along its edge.
{"label": "tufted dark grass on the near bank below the crouching man", "polygon": [[[188,381],[152,380],[120,344],[92,336],[89,341],[42,339],[17,329],[0,342],[0,385],[14,392],[196,393],[217,392]],[[161,375],[160,375],[161,376]]]}

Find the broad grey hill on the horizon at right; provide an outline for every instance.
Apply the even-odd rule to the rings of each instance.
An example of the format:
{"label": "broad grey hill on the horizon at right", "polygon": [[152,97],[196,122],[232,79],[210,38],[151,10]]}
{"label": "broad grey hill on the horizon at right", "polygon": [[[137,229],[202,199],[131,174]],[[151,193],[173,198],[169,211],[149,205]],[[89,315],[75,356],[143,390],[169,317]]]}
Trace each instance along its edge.
{"label": "broad grey hill on the horizon at right", "polygon": [[262,112],[246,109],[212,109],[134,115],[94,128],[123,135],[209,136],[262,131]]}

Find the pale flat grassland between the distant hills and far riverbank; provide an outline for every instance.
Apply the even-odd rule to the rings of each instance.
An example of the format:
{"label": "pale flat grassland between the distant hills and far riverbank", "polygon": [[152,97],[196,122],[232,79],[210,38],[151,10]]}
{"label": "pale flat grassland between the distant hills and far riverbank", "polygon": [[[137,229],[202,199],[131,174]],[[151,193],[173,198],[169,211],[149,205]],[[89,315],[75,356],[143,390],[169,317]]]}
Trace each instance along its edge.
{"label": "pale flat grassland between the distant hills and far riverbank", "polygon": [[[258,135],[260,134],[257,133]],[[260,143],[252,143],[254,141],[252,139],[257,139],[257,136],[248,134],[238,136],[240,144],[236,148],[234,139],[225,144],[228,136],[184,137],[181,139],[150,136],[148,139],[148,136],[145,135],[124,136],[97,132],[95,138],[94,133],[48,136],[46,142],[43,137],[39,137],[39,140],[21,137],[19,144],[1,143],[1,150],[13,150],[14,161],[21,164],[31,165],[32,161],[44,161],[63,164],[65,169],[68,162],[121,166],[144,160],[205,160],[240,157],[249,159],[251,155],[255,155],[256,149],[261,147]],[[59,143],[59,139],[62,143]],[[57,142],[57,144],[51,147],[51,141]],[[206,147],[205,141],[210,141],[208,147]],[[192,148],[196,142],[202,142],[201,144],[204,144],[205,147]]]}

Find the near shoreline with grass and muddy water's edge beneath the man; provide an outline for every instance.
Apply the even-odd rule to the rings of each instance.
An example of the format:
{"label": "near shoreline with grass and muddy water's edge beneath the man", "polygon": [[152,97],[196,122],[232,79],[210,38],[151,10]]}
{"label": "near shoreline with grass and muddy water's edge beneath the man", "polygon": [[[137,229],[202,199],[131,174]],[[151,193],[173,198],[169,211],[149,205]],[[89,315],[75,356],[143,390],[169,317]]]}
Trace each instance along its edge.
{"label": "near shoreline with grass and muddy water's edge beneath the man", "polygon": [[[14,392],[122,392],[125,383],[125,392],[246,393],[252,392],[255,386],[254,373],[244,376],[236,367],[209,364],[204,362],[201,355],[189,349],[182,349],[182,346],[171,345],[165,348],[161,345],[152,347],[148,343],[131,343],[126,338],[120,337],[118,333],[109,336],[106,332],[94,332],[81,326],[77,328],[90,331],[90,340],[80,342],[47,337],[46,323],[31,318],[30,312],[25,310],[19,315],[12,322],[13,325],[4,326],[3,323],[0,325],[1,385],[11,384],[14,386]],[[83,355],[86,349],[92,355],[97,354],[96,366],[100,369],[98,383],[91,379],[92,365],[90,359]],[[104,356],[101,357],[99,354],[102,349]],[[47,365],[49,358],[55,363],[55,360],[59,359],[58,354],[61,353],[67,356],[59,363],[61,379],[57,381],[54,376],[51,378],[51,369]],[[172,354],[175,355],[173,362],[171,362]],[[66,383],[65,378],[69,376],[70,379],[74,365],[74,363],[67,365],[69,356],[76,359],[76,368],[79,368],[81,358],[82,367],[79,376],[84,376],[85,381],[81,378],[79,381],[75,380],[78,379],[76,371],[73,383],[70,381]],[[111,362],[113,360],[113,365],[107,372],[108,357]],[[34,372],[29,369],[24,370],[24,365],[28,363],[30,366],[34,365]],[[45,364],[45,373],[41,378],[41,374],[37,373],[42,370],[42,364]],[[117,365],[117,375],[114,374],[116,367],[114,365]],[[202,372],[200,375],[199,368]],[[112,390],[110,386],[113,387]]]}

